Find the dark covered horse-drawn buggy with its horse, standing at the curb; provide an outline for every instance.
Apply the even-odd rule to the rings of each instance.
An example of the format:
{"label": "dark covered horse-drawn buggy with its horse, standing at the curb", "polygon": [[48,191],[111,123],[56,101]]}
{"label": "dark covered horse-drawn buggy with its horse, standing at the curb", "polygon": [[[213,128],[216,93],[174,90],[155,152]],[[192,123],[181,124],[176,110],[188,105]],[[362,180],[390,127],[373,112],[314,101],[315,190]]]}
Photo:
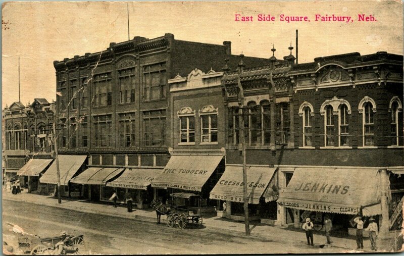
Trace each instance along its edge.
{"label": "dark covered horse-drawn buggy with its horse, standing at the curb", "polygon": [[193,224],[195,227],[203,227],[203,218],[200,214],[195,214],[200,208],[201,197],[193,193],[172,193],[171,203],[152,201],[151,207],[156,210],[157,223],[160,223],[161,215],[167,216],[169,227],[178,226],[181,229]]}

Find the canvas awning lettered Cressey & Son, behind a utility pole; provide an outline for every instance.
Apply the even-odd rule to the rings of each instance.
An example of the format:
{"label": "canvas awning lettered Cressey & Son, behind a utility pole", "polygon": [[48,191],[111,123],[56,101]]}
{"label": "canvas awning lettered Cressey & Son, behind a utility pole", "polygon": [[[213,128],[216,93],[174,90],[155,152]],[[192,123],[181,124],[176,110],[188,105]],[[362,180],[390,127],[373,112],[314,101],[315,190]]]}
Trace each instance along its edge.
{"label": "canvas awning lettered Cressey & Son, behind a utility pole", "polygon": [[[248,203],[257,204],[274,177],[276,168],[267,166],[247,166]],[[272,196],[272,194],[271,194]],[[243,202],[243,168],[226,166],[222,177],[210,193],[211,199]]]}

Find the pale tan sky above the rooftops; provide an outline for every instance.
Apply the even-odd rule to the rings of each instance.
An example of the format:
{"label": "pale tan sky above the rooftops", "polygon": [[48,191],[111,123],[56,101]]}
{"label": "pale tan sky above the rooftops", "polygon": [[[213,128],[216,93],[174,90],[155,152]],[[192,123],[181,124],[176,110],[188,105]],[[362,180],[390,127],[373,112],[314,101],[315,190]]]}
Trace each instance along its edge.
{"label": "pale tan sky above the rooftops", "polygon": [[[234,14],[271,14],[275,22],[235,22]],[[308,16],[310,23],[281,22],[279,15]],[[315,22],[314,15],[352,16],[353,23]],[[372,14],[376,22],[358,22]],[[289,54],[299,30],[299,63],[350,52],[403,54],[400,1],[322,2],[131,2],[130,37],[174,34],[176,39],[222,44],[232,53],[269,58]],[[3,5],[3,108],[18,101],[18,56],[21,101],[55,99],[54,60],[99,52],[110,42],[128,39],[124,2],[9,2]],[[5,29],[6,28],[6,29]],[[293,50],[293,55],[295,55]]]}

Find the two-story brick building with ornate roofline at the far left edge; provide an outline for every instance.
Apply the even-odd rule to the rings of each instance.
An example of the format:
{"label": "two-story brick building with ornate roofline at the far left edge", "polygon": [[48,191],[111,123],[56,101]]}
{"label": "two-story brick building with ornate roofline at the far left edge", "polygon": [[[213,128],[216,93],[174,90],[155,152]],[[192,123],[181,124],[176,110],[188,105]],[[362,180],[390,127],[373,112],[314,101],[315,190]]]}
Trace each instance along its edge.
{"label": "two-story brick building with ornate roofline at the far left edge", "polygon": [[[53,158],[53,146],[48,144],[46,135],[52,133],[49,130],[54,118],[55,103],[48,103],[44,98],[35,98],[33,103],[28,103],[27,106],[20,102],[6,106],[3,110],[5,180],[18,175],[22,187],[28,188],[29,191],[38,190],[40,172]],[[20,172],[32,159],[44,165],[42,170],[32,175]]]}

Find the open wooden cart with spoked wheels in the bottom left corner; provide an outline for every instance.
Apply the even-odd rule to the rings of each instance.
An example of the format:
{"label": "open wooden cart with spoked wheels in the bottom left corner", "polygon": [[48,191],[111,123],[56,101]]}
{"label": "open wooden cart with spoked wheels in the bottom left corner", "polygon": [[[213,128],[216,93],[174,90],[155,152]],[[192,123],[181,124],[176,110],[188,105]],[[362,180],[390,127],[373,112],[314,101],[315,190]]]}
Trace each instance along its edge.
{"label": "open wooden cart with spoked wheels in the bottom left corner", "polygon": [[[18,238],[18,249],[31,255],[53,255],[56,244],[63,239],[63,236],[40,237],[22,234]],[[72,236],[70,247],[71,249],[64,250],[62,254],[82,254],[85,251],[83,235]]]}

